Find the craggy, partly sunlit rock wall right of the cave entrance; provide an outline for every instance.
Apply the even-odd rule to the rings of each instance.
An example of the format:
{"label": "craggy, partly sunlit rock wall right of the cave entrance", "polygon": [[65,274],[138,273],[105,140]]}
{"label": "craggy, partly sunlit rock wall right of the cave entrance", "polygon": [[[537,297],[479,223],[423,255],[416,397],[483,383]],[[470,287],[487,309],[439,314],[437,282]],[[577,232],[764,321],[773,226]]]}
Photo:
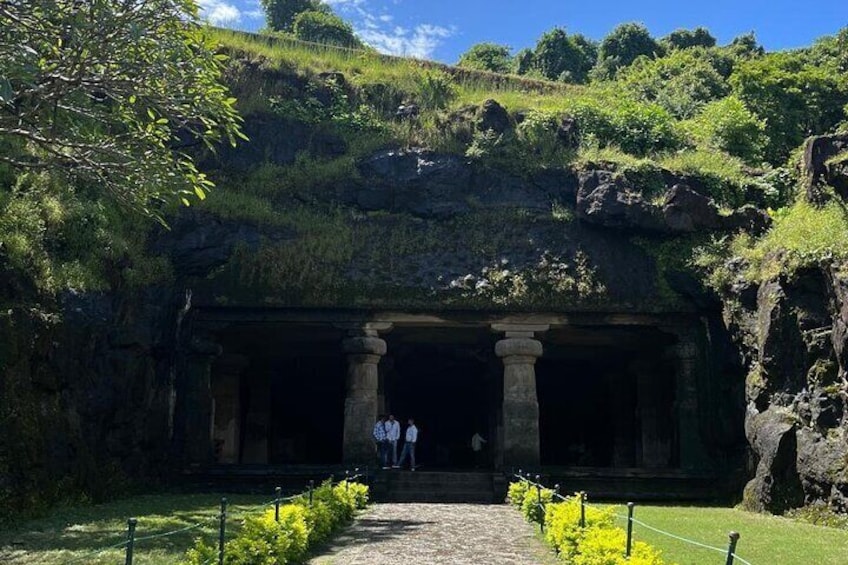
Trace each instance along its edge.
{"label": "craggy, partly sunlit rock wall right of the cave entrance", "polygon": [[[826,161],[846,141],[808,142],[807,198],[844,198],[839,187],[848,177]],[[725,320],[749,368],[745,433],[756,471],[745,505],[783,512],[824,502],[848,511],[846,265],[821,261],[758,285],[738,277],[724,299]]]}

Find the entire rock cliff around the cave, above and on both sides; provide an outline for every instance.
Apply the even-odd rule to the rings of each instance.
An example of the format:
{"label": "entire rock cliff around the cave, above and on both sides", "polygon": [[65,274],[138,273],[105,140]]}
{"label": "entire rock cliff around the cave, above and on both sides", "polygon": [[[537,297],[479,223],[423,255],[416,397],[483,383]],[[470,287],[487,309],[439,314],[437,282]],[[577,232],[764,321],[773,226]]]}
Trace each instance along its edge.
{"label": "entire rock cliff around the cave, above and on both sides", "polygon": [[[266,97],[306,89],[286,73],[259,82]],[[332,92],[313,94],[320,104]],[[26,507],[46,484],[58,485],[46,498],[106,493],[179,464],[180,326],[197,307],[687,313],[715,337],[710,362],[734,364],[721,304],[687,263],[712,235],[762,232],[769,219],[757,207],[730,209],[698,175],[659,167],[647,177],[608,162],[516,168],[365,143],[283,114],[249,114],[251,143],[205,164],[220,187],[210,202],[151,236],[173,267],[166,287],[66,295],[55,320],[20,309],[0,318],[7,500]],[[463,116],[455,128],[475,133],[508,133],[520,118],[494,101]],[[578,127],[560,124],[560,149]],[[724,297],[751,367],[753,507],[844,508],[846,285],[843,270],[823,265]],[[0,272],[0,292],[31,291]]]}

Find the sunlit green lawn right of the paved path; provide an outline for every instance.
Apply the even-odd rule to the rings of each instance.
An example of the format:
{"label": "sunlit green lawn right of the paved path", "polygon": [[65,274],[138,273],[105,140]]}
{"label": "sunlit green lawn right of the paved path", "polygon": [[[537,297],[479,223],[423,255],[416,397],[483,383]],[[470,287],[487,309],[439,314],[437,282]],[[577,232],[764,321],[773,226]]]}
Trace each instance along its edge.
{"label": "sunlit green lawn right of the paved path", "polygon": [[[625,506],[616,506],[620,515]],[[846,565],[848,530],[813,526],[781,518],[735,510],[698,506],[641,506],[633,514],[654,528],[713,547],[727,549],[727,534],[741,534],[736,554],[752,565]],[[626,521],[619,519],[626,527]],[[634,539],[662,550],[663,557],[678,565],[724,565],[718,552],[677,541],[635,524]],[[735,563],[739,563],[738,561]]]}

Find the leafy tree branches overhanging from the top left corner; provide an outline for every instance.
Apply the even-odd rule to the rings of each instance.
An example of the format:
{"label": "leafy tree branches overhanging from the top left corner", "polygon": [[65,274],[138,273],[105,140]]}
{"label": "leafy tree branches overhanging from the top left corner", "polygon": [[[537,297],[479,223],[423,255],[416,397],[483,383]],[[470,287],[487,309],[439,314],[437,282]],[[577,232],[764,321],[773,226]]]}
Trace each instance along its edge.
{"label": "leafy tree branches overhanging from the top left corner", "polygon": [[155,215],[211,185],[179,147],[241,136],[193,0],[0,3],[0,162]]}

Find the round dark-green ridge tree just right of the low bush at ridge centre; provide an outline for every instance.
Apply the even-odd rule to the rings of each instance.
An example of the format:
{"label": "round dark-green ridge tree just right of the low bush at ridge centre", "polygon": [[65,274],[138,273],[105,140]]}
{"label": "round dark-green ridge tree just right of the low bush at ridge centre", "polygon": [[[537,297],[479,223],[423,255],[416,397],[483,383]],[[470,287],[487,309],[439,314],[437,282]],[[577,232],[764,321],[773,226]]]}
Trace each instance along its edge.
{"label": "round dark-green ridge tree just right of the low bush at ridge centre", "polygon": [[595,64],[594,45],[583,36],[569,36],[564,29],[545,32],[536,43],[533,64],[545,77],[566,82],[585,82]]}

